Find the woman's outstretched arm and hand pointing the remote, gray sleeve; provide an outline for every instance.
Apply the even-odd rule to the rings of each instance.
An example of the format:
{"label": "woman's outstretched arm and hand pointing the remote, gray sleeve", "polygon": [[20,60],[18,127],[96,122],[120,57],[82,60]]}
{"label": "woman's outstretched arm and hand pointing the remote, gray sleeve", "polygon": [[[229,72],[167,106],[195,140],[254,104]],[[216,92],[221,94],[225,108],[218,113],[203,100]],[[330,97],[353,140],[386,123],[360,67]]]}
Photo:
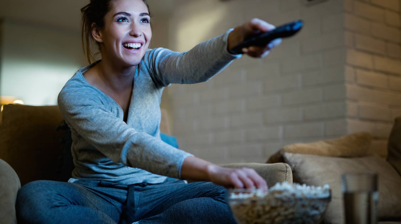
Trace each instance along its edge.
{"label": "woman's outstretched arm and hand pointing the remote, gray sleeve", "polygon": [[[182,53],[167,48],[150,49],[144,56],[144,64],[148,67],[154,82],[159,86],[168,86],[171,83],[207,82],[231,64],[234,59],[242,56],[242,54],[232,54],[229,49],[249,36],[274,28],[275,26],[254,18]],[[281,39],[273,40],[272,43],[272,46],[243,48],[243,53],[255,58],[265,57],[271,48],[281,43]]]}

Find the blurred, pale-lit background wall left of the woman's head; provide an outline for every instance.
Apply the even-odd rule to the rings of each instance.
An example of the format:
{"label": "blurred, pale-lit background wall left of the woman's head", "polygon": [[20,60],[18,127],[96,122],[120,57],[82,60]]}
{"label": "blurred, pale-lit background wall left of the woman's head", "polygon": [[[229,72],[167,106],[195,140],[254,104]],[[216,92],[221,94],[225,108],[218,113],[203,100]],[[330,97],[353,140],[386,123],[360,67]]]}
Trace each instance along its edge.
{"label": "blurred, pale-lit background wall left of the woman's head", "polygon": [[3,20],[0,95],[28,105],[57,105],[57,95],[85,66],[80,32],[18,20]]}

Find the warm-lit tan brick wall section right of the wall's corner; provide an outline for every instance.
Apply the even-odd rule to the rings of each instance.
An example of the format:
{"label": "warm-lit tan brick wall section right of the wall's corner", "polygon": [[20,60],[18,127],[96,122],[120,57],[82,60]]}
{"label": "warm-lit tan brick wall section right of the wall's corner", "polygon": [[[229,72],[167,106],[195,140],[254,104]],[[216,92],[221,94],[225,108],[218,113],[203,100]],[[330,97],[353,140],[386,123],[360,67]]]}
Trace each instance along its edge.
{"label": "warm-lit tan brick wall section right of the wall's corner", "polygon": [[371,150],[387,156],[387,138],[401,116],[399,0],[345,0],[348,132],[367,131]]}

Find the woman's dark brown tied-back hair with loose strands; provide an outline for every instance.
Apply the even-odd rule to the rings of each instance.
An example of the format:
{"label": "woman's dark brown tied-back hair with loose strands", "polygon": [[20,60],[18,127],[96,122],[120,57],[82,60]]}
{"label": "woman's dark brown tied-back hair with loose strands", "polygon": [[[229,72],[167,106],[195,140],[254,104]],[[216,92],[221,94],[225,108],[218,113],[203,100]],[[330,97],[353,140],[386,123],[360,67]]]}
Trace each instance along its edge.
{"label": "woman's dark brown tied-back hair with loose strands", "polygon": [[[103,28],[104,27],[104,16],[109,12],[111,1],[113,0],[90,0],[90,3],[81,8],[82,14],[82,47],[83,53],[85,54],[86,59],[88,60],[89,64],[91,64],[91,60],[95,61],[95,56],[100,53],[100,44],[99,42],[95,41],[92,36],[92,23],[95,23],[96,28]],[[149,5],[146,0],[142,0],[146,7],[148,7],[149,15]],[[152,28],[152,24],[150,24]],[[85,41],[84,41],[85,39]],[[99,50],[97,53],[93,53],[91,48],[92,43],[96,42],[97,49]],[[85,45],[86,44],[86,45]]]}

